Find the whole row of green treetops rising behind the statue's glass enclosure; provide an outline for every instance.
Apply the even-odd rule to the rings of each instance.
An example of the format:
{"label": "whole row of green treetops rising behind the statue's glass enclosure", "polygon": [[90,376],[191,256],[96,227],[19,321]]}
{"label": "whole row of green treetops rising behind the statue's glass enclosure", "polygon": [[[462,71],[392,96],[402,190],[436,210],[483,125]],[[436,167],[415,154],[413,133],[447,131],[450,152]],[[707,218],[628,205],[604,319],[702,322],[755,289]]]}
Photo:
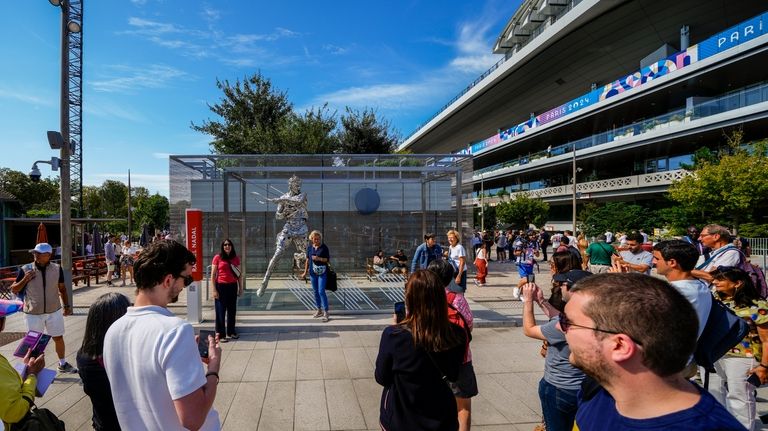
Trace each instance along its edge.
{"label": "whole row of green treetops rising behind the statue's glass enclosure", "polygon": [[216,154],[388,154],[397,132],[374,109],[345,108],[337,118],[328,104],[296,113],[288,94],[260,72],[240,81],[216,80],[218,103],[208,104],[218,119],[191,124],[210,135]]}

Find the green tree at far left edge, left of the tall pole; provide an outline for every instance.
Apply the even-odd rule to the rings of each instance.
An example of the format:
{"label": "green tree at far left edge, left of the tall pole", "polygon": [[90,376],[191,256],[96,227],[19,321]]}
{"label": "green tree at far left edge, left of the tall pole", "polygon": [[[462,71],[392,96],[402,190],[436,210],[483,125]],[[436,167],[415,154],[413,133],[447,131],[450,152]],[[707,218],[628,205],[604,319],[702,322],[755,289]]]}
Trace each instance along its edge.
{"label": "green tree at far left edge, left of the tall pole", "polygon": [[0,189],[14,195],[26,213],[30,210],[47,214],[59,213],[59,177],[32,181],[23,172],[0,168]]}

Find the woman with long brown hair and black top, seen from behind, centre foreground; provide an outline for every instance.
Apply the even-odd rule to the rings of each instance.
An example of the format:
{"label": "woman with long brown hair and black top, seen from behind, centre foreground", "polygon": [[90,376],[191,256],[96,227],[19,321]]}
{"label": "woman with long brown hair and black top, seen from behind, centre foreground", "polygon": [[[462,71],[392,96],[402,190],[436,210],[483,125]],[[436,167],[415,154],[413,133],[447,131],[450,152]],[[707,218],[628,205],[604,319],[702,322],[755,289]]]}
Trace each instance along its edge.
{"label": "woman with long brown hair and black top, seen from behind, centre foreground", "polygon": [[376,382],[384,387],[379,422],[389,431],[456,431],[455,382],[467,336],[448,321],[445,289],[429,270],[417,270],[405,285],[405,319],[381,334]]}

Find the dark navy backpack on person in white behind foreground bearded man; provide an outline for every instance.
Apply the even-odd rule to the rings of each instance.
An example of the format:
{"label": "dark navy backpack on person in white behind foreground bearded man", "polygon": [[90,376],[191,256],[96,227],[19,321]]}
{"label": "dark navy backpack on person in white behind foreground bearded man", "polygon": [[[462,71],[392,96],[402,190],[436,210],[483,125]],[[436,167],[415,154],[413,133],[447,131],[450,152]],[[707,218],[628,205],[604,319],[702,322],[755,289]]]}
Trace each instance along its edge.
{"label": "dark navy backpack on person in white behind foreground bearded man", "polygon": [[693,359],[704,367],[704,388],[709,386],[709,373],[715,371],[714,364],[749,333],[749,325],[728,306],[712,298],[704,330],[696,342]]}

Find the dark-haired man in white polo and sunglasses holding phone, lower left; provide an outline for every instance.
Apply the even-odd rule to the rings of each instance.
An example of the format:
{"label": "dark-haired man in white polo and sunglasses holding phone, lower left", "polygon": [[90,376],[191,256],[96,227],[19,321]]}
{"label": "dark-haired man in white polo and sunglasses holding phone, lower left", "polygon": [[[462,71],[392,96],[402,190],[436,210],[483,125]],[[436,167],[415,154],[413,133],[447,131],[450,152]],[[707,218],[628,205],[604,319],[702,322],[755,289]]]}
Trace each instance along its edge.
{"label": "dark-haired man in white polo and sunglasses holding phone, lower left", "polygon": [[221,427],[212,408],[221,361],[218,336],[208,338],[208,357],[201,361],[192,325],[167,308],[192,283],[195,261],[178,242],[158,240],[134,263],[136,301],[104,340],[104,367],[122,429]]}

